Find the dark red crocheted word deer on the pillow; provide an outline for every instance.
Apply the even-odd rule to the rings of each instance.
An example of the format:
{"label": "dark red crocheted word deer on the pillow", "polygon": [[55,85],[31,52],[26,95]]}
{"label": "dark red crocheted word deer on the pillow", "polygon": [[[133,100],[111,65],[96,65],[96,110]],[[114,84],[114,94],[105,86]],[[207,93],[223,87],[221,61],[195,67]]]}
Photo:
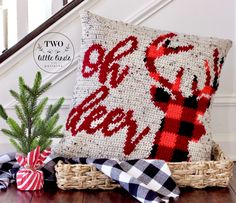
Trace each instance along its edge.
{"label": "dark red crocheted word deer on the pillow", "polygon": [[[109,93],[109,89],[106,86],[102,86],[85,100],[74,107],[67,119],[66,129],[70,130],[72,135],[75,136],[78,132],[85,131],[88,134],[94,134],[96,131],[101,130],[104,136],[112,136],[121,129],[127,128],[127,139],[124,146],[124,153],[129,155],[136,147],[136,145],[146,136],[150,128],[146,127],[136,139],[133,140],[137,134],[137,123],[133,119],[133,111],[129,110],[125,112],[121,108],[115,108],[110,112],[107,108],[99,103],[104,100]],[[82,117],[84,113],[89,112],[87,116]],[[79,121],[83,122],[78,125]],[[94,121],[101,120],[100,123],[92,124]],[[116,124],[111,129],[111,125]],[[78,125],[78,126],[77,126]]]}

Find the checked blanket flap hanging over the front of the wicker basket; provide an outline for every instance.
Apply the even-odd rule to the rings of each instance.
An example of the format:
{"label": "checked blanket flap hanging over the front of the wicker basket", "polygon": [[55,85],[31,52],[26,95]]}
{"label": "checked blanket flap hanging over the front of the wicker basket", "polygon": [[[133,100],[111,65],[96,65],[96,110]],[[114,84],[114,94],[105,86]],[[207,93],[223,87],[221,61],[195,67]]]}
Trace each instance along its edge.
{"label": "checked blanket flap hanging over the front of the wicker basket", "polygon": [[168,202],[169,198],[179,196],[179,189],[164,161],[135,159],[118,162],[111,159],[90,158],[76,160],[95,165],[140,202]]}

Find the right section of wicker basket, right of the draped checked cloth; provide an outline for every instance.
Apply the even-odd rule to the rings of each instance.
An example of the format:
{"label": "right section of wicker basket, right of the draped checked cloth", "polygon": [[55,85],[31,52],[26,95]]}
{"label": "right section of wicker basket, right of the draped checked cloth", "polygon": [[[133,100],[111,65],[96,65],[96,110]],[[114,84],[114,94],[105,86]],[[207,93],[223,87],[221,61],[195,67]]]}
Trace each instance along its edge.
{"label": "right section of wicker basket, right of the draped checked cloth", "polygon": [[218,144],[212,149],[213,161],[169,162],[172,177],[179,187],[227,187],[234,163],[224,155]]}

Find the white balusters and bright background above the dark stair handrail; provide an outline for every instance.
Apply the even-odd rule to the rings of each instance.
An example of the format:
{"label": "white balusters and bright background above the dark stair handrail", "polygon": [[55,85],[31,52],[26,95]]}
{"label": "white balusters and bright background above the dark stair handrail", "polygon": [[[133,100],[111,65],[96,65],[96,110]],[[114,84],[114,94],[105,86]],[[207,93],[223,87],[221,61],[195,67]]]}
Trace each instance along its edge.
{"label": "white balusters and bright background above the dark stair handrail", "polygon": [[0,53],[53,16],[72,0],[1,0]]}

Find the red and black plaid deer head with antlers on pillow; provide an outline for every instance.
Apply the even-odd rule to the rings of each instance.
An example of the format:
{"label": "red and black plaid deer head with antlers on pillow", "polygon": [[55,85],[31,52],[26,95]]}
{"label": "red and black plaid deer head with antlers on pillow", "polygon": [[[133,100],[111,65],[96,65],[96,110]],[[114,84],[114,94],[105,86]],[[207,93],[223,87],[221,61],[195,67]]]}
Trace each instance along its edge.
{"label": "red and black plaid deer head with antlers on pillow", "polygon": [[[210,105],[211,95],[218,87],[218,75],[220,74],[223,59],[219,62],[218,50],[215,49],[214,57],[214,80],[210,84],[211,75],[208,61],[205,61],[206,81],[203,89],[198,88],[197,77],[192,81],[192,95],[184,97],[181,92],[181,79],[184,68],[177,72],[174,83],[163,78],[155,68],[155,60],[163,55],[177,54],[179,51],[188,51],[190,46],[169,47],[172,35],[160,36],[152,42],[151,49],[146,51],[146,67],[150,77],[161,85],[153,85],[150,89],[152,101],[160,108],[165,117],[162,119],[161,128],[156,133],[154,146],[150,158],[163,159],[166,161],[185,161],[188,159],[189,141],[198,141],[206,134],[205,126],[199,120]],[[160,43],[163,43],[160,46]],[[166,91],[167,88],[171,94]]]}

